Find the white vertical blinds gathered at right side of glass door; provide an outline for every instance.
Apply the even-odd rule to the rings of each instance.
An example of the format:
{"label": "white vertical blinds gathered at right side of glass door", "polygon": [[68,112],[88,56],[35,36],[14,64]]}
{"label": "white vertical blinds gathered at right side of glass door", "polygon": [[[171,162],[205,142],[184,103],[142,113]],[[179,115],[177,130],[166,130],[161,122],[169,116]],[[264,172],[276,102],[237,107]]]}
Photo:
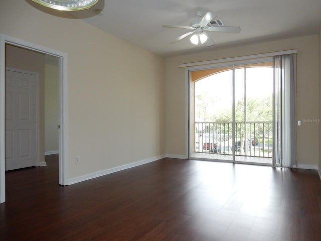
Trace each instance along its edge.
{"label": "white vertical blinds gathered at right side of glass door", "polygon": [[274,56],[273,165],[296,164],[294,55]]}

